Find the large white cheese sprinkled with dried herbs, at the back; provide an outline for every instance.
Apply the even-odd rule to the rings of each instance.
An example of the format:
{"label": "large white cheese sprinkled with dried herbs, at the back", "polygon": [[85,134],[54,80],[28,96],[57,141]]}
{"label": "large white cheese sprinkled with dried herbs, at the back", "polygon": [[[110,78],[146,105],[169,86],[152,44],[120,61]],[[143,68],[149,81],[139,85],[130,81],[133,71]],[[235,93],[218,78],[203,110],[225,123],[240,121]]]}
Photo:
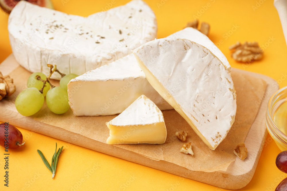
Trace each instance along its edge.
{"label": "large white cheese sprinkled with dried herbs, at the back", "polygon": [[[30,72],[84,74],[156,38],[154,12],[141,0],[92,14],[68,15],[20,1],[9,15],[13,55]],[[60,79],[55,72],[51,78]]]}

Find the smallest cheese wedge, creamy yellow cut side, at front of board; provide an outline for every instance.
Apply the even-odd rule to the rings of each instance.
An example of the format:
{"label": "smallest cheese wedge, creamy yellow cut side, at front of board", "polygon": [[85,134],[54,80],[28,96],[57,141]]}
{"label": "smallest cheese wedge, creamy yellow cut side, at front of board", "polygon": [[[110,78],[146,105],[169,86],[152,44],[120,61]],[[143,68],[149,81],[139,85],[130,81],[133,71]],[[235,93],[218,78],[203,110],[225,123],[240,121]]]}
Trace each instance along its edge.
{"label": "smallest cheese wedge, creamy yellow cut side, at front of board", "polygon": [[145,95],[106,125],[110,129],[108,144],[162,144],[166,140],[162,112]]}

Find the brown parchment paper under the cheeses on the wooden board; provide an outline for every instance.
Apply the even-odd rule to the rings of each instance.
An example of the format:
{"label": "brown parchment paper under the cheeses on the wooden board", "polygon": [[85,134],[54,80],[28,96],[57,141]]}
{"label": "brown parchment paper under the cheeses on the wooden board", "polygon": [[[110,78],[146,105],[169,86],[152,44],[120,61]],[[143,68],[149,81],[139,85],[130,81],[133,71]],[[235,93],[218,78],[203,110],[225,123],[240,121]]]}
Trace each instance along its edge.
{"label": "brown parchment paper under the cheeses on the wooden board", "polygon": [[[14,82],[18,88],[15,93],[18,94],[25,88],[26,79],[30,75],[30,72],[22,67],[18,67],[16,70],[19,71],[13,73],[21,75],[11,77],[14,78]],[[257,115],[266,89],[266,82],[259,78],[236,72],[232,72],[232,78],[237,95],[235,122],[226,138],[214,151],[209,149],[203,141],[201,141],[188,123],[174,110],[163,111],[167,128],[167,139],[164,144],[122,144],[114,145],[114,147],[121,147],[154,160],[165,160],[193,171],[225,171],[230,163],[236,159],[233,149],[238,143],[245,140],[249,128]],[[59,85],[58,81],[52,81],[52,83]],[[117,115],[97,117],[74,116],[71,109],[65,114],[57,115],[52,113],[44,103],[42,109],[31,117],[36,121],[54,125],[90,139],[106,143],[106,139],[109,136],[109,129],[105,123],[116,116]],[[193,156],[179,152],[183,142],[174,135],[177,131],[189,132],[185,143],[192,143]]]}

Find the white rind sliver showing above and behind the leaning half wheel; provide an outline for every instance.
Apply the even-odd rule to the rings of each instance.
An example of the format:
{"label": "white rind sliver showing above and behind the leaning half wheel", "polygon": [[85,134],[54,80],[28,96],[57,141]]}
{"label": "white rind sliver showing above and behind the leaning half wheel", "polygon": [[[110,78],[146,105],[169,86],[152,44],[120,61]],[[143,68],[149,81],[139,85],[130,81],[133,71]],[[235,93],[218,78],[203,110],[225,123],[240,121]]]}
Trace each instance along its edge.
{"label": "white rind sliver showing above and behind the leaning half wheel", "polygon": [[231,72],[231,66],[227,60],[227,58],[224,56],[224,54],[219,50],[219,48],[203,33],[198,31],[197,29],[194,29],[192,27],[186,27],[167,38],[185,38],[190,41],[196,42],[198,44],[201,44],[202,46],[209,49],[221,62],[226,66],[226,69],[228,72]]}

